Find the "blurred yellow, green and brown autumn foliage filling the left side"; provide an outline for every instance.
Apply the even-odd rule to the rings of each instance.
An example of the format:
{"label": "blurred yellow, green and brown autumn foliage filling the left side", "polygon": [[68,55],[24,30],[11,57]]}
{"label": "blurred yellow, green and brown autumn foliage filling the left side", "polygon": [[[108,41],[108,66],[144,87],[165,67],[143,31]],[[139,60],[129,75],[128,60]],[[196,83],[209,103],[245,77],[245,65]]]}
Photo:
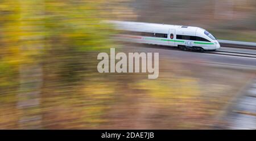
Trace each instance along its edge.
{"label": "blurred yellow, green and brown autumn foliage filling the left side", "polygon": [[[109,36],[115,31],[102,20],[132,18],[124,2],[128,1],[0,2],[1,129],[47,128],[55,119],[68,121],[74,117],[81,118],[81,122],[100,122],[97,114],[102,106],[93,105],[90,97],[101,96],[102,92],[88,86],[93,84],[92,63],[97,59],[88,52],[113,45]],[[104,87],[110,88],[100,89]],[[102,99],[108,98],[111,88],[108,91]],[[85,108],[76,102],[92,105]],[[74,110],[74,106],[82,109]],[[84,111],[82,117],[72,115]],[[79,126],[68,126],[72,127]]]}

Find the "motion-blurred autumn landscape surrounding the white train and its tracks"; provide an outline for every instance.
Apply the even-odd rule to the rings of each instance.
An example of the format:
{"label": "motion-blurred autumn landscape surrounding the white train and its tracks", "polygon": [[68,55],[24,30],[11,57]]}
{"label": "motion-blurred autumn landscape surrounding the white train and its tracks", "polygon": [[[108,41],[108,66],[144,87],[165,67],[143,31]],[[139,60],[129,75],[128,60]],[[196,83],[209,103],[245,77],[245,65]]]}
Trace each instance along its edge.
{"label": "motion-blurred autumn landscape surrounding the white train and its tracks", "polygon": [[[214,129],[255,71],[168,58],[102,20],[192,25],[256,42],[254,0],[2,0],[0,129]],[[159,52],[159,78],[100,74],[98,52]],[[188,60],[193,63],[189,63]]]}

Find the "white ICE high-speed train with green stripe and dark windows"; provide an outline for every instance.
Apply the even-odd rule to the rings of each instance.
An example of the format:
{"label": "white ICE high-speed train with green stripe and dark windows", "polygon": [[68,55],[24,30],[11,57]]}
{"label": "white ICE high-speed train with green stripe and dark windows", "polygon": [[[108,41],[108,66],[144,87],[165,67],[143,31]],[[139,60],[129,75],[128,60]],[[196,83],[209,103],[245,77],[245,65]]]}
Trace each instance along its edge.
{"label": "white ICE high-speed train with green stripe and dark windows", "polygon": [[216,50],[220,44],[216,38],[203,28],[183,25],[167,25],[139,22],[111,21],[122,40],[144,44],[177,46],[187,50]]}

